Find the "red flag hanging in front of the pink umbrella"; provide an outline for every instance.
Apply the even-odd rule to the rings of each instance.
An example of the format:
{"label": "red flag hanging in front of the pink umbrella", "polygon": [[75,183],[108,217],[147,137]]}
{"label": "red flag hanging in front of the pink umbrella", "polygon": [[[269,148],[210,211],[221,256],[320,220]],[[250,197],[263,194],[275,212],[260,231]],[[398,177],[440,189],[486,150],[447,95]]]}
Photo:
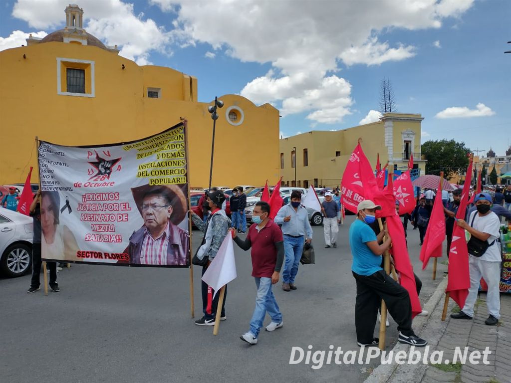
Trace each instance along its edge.
{"label": "red flag hanging in front of the pink umbrella", "polygon": [[444,204],[442,203],[442,179],[439,181],[438,193],[435,196],[433,210],[429,218],[426,238],[421,249],[422,269],[426,269],[430,257],[442,256],[442,243],[446,237],[446,220],[444,213]]}

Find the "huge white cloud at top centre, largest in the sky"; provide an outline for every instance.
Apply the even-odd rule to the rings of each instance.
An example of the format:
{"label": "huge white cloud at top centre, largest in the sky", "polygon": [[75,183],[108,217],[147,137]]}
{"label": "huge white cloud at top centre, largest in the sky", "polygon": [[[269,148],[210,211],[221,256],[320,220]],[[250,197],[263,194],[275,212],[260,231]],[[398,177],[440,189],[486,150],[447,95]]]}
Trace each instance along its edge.
{"label": "huge white cloud at top centre, largest in the sky", "polygon": [[180,44],[206,43],[240,61],[271,63],[272,70],[249,81],[242,95],[258,104],[274,103],[284,114],[308,111],[316,123],[341,122],[352,113],[351,85],[338,75],[340,62],[380,65],[413,57],[413,44],[379,37],[392,28],[439,28],[444,18],[459,16],[472,2],[150,0],[177,16],[172,36]]}

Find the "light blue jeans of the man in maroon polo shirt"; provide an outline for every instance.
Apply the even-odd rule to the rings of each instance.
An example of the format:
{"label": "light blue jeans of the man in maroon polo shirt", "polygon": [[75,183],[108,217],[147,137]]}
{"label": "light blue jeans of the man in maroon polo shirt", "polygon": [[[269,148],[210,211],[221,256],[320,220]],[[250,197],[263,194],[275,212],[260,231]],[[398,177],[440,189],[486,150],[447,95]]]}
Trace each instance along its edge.
{"label": "light blue jeans of the man in maroon polo shirt", "polygon": [[255,308],[250,320],[250,332],[255,338],[259,335],[259,330],[263,327],[264,317],[266,313],[271,320],[276,323],[282,322],[282,314],[278,304],[271,291],[271,278],[262,277],[254,278],[257,286],[257,297],[255,298]]}

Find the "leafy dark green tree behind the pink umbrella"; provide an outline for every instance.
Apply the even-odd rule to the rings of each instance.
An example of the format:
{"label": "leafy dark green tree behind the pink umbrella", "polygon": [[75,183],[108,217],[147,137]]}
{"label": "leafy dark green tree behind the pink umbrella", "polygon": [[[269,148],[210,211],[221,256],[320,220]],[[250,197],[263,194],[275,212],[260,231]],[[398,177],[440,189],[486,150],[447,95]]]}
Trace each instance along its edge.
{"label": "leafy dark green tree behind the pink umbrella", "polygon": [[444,172],[444,178],[450,179],[456,174],[464,174],[469,165],[470,149],[464,142],[455,140],[430,140],[422,145],[422,154],[426,156],[426,174],[439,176]]}

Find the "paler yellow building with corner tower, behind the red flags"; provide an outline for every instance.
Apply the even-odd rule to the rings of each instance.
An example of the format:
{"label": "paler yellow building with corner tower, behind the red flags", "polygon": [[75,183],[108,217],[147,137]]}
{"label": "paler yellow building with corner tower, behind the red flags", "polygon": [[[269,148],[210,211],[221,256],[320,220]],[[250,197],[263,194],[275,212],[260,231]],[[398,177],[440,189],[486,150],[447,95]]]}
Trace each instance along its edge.
{"label": "paler yellow building with corner tower, behind the red flags", "polygon": [[[280,140],[280,168],[283,185],[339,186],[353,149],[362,138],[362,149],[375,166],[380,155],[382,167],[406,170],[410,155],[425,174],[421,153],[420,114],[386,113],[380,121],[338,131],[312,131]],[[295,166],[296,164],[296,166]],[[296,182],[295,182],[296,180]]]}

